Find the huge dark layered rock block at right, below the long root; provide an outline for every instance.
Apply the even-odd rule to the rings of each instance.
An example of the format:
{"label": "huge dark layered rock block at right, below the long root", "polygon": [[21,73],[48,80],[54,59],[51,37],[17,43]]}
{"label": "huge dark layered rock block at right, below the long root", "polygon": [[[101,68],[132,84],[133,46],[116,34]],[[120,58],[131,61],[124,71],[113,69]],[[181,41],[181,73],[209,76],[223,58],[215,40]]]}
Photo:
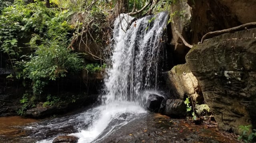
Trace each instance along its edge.
{"label": "huge dark layered rock block at right, below the long root", "polygon": [[256,29],[226,33],[195,45],[186,61],[218,126],[256,128]]}

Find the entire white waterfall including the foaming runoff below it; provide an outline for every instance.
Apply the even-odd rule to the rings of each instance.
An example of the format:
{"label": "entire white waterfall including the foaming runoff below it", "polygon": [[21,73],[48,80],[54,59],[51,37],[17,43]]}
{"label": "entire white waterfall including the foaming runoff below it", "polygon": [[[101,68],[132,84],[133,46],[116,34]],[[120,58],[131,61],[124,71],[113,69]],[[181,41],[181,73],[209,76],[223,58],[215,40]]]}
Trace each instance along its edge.
{"label": "entire white waterfall including the foaming runoff below it", "polygon": [[[117,127],[146,114],[143,94],[146,90],[156,91],[158,88],[161,38],[167,17],[168,14],[162,12],[132,24],[133,18],[127,14],[116,19],[111,45],[112,67],[107,69],[102,105],[64,119],[68,123],[79,122],[79,132],[70,134],[79,137],[78,143],[98,142]],[[49,121],[44,128],[49,126],[51,129],[54,123],[60,125],[56,123],[58,120],[61,119]],[[27,128],[38,129],[40,126]],[[51,143],[52,139],[38,142]]]}

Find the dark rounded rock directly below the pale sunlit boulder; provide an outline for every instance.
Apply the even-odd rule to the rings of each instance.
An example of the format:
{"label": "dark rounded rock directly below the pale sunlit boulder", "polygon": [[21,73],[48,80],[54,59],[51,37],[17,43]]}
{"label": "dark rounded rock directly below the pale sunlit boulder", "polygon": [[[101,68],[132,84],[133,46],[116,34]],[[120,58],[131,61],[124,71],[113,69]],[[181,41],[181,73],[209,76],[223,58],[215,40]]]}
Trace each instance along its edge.
{"label": "dark rounded rock directly below the pale sunlit boulder", "polygon": [[168,99],[166,101],[166,107],[164,114],[171,116],[172,118],[182,118],[186,116],[186,105],[183,100],[180,99]]}

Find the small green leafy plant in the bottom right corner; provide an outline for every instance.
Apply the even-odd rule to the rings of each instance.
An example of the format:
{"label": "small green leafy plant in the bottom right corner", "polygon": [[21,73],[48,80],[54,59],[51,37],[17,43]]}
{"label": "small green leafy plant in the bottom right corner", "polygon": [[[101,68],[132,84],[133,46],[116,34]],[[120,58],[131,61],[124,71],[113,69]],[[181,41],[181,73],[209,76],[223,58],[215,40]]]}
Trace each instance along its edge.
{"label": "small green leafy plant in the bottom right corner", "polygon": [[246,143],[252,143],[254,141],[254,137],[256,137],[256,129],[252,130],[252,133],[249,134],[250,128],[252,125],[240,125],[239,130],[242,131],[242,135],[238,137],[238,140],[243,140]]}

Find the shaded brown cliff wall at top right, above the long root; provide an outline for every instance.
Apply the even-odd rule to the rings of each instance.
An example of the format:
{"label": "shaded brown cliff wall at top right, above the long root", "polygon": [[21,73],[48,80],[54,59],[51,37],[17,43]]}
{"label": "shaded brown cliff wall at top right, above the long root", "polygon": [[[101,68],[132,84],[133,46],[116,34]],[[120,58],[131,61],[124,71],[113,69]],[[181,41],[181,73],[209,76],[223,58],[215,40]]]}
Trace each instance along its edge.
{"label": "shaded brown cliff wall at top right, above the long root", "polygon": [[178,33],[188,44],[197,44],[208,32],[255,22],[255,7],[253,0],[177,0],[170,9],[173,57],[182,61],[189,51]]}

